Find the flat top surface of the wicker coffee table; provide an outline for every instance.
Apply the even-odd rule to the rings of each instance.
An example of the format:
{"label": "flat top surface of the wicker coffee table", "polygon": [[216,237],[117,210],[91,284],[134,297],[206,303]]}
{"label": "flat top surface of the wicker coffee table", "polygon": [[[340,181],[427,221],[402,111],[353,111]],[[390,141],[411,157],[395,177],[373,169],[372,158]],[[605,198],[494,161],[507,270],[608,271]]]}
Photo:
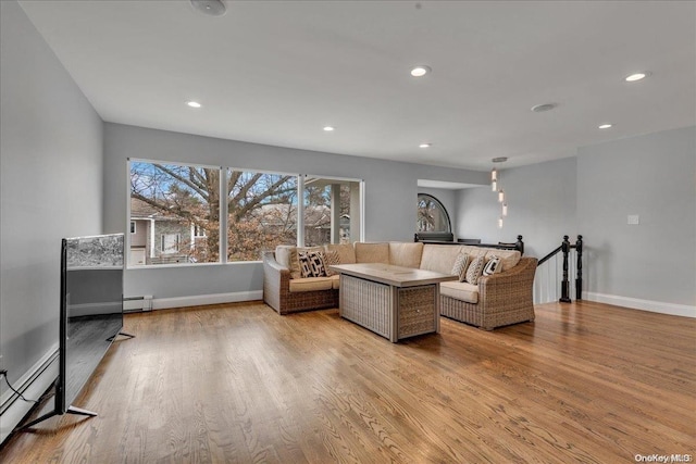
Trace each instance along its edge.
{"label": "flat top surface of the wicker coffee table", "polygon": [[440,281],[457,280],[457,276],[440,274],[434,271],[414,269],[381,263],[336,264],[328,266],[332,271],[352,277],[378,281],[393,287],[414,287]]}

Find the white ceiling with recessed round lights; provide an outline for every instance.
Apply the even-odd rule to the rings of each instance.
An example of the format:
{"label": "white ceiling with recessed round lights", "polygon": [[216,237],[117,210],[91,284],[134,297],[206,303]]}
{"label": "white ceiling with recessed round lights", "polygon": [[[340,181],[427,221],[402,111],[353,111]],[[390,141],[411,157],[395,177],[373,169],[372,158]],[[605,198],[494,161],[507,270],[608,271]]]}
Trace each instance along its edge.
{"label": "white ceiling with recessed round lights", "polygon": [[108,122],[474,170],[696,124],[691,1],[20,4]]}

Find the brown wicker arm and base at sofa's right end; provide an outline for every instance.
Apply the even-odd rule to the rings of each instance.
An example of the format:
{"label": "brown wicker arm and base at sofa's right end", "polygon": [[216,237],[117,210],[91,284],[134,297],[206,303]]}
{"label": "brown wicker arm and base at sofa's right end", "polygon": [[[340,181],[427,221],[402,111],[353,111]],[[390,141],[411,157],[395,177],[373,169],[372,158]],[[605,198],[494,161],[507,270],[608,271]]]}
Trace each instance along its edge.
{"label": "brown wicker arm and base at sofa's right end", "polygon": [[475,304],[440,294],[440,314],[486,330],[534,321],[532,289],[536,264],[536,258],[522,258],[504,274],[481,277]]}

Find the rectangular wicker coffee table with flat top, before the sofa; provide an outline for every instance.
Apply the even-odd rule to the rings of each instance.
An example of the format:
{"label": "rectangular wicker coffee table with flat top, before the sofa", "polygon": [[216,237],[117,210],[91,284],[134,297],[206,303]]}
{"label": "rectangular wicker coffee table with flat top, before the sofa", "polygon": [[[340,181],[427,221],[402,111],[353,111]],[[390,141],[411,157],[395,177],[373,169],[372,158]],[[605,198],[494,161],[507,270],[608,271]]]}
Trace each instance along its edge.
{"label": "rectangular wicker coffee table with flat top, before the sofa", "polygon": [[439,331],[439,283],[456,276],[390,264],[338,264],[339,313],[391,342]]}

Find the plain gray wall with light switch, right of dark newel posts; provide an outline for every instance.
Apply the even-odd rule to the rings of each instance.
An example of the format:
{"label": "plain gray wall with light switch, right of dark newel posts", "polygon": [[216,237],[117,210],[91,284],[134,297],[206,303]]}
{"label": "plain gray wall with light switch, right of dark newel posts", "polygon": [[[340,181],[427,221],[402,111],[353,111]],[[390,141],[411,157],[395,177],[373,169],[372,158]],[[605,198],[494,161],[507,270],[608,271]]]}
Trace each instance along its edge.
{"label": "plain gray wall with light switch, right of dark newel posts", "polygon": [[577,179],[588,290],[696,305],[696,127],[581,148]]}

